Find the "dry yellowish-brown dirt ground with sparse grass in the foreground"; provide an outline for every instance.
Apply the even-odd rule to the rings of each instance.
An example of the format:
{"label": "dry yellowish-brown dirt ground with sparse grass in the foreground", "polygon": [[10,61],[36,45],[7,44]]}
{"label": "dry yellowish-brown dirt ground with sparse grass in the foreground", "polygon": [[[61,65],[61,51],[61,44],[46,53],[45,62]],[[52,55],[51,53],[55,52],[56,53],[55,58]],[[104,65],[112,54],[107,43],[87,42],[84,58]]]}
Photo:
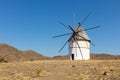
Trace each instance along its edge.
{"label": "dry yellowish-brown dirt ground with sparse grass in the foreground", "polygon": [[0,80],[120,80],[120,60],[0,63]]}

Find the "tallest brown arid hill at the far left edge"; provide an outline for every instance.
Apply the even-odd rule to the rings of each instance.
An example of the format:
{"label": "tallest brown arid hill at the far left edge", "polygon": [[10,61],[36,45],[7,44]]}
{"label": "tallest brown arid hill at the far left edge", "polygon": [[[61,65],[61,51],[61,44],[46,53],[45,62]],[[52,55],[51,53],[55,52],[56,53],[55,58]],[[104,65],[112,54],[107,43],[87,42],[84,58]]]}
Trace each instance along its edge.
{"label": "tallest brown arid hill at the far left edge", "polygon": [[21,61],[25,60],[22,51],[9,46],[7,44],[0,44],[0,58],[5,61]]}

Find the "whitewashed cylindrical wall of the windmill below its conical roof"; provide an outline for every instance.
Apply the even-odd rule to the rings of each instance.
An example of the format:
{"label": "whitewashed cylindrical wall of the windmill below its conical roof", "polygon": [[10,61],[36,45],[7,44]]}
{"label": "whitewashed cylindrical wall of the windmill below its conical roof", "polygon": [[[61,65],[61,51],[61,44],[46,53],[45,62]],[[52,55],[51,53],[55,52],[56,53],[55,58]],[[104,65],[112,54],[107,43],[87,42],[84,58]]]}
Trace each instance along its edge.
{"label": "whitewashed cylindrical wall of the windmill below its conical roof", "polygon": [[[79,46],[77,45],[79,44]],[[71,54],[74,54],[74,60],[90,59],[90,43],[88,41],[70,41],[69,42],[69,58],[72,60]],[[82,57],[83,56],[83,57]]]}

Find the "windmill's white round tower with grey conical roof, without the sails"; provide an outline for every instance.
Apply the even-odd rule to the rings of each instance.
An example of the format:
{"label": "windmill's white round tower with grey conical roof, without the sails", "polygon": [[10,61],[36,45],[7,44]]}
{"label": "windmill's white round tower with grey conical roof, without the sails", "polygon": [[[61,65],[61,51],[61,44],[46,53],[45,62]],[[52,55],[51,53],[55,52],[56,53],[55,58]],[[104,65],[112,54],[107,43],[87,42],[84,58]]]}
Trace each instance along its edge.
{"label": "windmill's white round tower with grey conical roof, without the sails", "polygon": [[90,59],[90,39],[83,31],[80,24],[74,30],[75,36],[70,37],[69,57],[70,60],[89,60]]}

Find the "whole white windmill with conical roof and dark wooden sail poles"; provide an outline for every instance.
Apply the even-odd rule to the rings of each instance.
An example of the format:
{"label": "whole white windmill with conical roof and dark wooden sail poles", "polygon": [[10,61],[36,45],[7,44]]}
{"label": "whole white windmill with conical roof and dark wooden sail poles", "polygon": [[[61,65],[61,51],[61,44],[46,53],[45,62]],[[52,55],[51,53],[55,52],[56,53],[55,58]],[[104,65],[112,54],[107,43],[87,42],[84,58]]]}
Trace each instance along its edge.
{"label": "whole white windmill with conical roof and dark wooden sail poles", "polygon": [[61,34],[53,36],[53,38],[62,37],[66,35],[71,35],[70,38],[65,42],[62,48],[59,50],[61,52],[63,48],[69,43],[69,59],[70,60],[89,60],[90,59],[90,43],[94,45],[89,39],[85,31],[98,28],[100,26],[95,26],[87,29],[82,28],[82,24],[88,18],[90,13],[83,19],[81,23],[78,23],[78,26],[73,29],[70,25],[66,26],[65,24],[59,22],[64,27],[72,31],[71,33]]}

